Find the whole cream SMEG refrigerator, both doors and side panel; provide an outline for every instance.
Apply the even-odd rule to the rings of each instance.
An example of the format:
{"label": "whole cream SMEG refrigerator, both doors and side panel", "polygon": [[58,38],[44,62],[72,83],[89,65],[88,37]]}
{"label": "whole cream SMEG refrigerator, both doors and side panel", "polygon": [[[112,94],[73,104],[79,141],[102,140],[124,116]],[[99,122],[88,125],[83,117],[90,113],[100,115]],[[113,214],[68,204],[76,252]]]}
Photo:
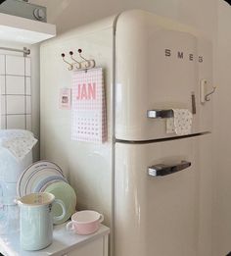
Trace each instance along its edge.
{"label": "whole cream SMEG refrigerator, both doors and side panel", "polygon": [[[71,141],[57,107],[71,85],[61,53],[77,48],[104,69],[104,144]],[[140,10],[41,46],[41,156],[66,170],[78,209],[105,215],[112,255],[211,255],[211,52],[196,29]],[[189,135],[166,133],[172,109],[193,113]]]}

